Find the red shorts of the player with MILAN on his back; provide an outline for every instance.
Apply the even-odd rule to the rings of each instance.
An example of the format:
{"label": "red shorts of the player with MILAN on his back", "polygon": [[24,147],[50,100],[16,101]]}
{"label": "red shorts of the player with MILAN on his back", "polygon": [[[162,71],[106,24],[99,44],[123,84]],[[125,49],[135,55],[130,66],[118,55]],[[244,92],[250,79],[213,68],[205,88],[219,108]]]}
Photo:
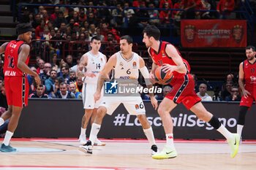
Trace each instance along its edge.
{"label": "red shorts of the player with MILAN on his back", "polygon": [[26,77],[4,77],[7,103],[10,106],[26,107],[29,101],[29,82]]}

